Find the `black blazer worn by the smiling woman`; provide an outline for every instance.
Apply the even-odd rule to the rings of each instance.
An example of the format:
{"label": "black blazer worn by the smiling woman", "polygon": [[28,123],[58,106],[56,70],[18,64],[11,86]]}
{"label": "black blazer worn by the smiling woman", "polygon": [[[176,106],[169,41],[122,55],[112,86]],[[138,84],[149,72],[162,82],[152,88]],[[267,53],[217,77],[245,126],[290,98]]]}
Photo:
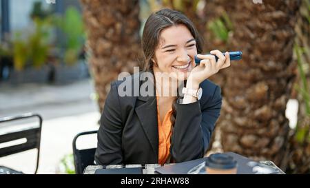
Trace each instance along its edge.
{"label": "black blazer worn by the smiling woman", "polygon": [[[136,75],[136,74],[135,74]],[[139,76],[130,76],[138,79]],[[98,132],[97,165],[158,163],[156,96],[119,96],[111,83]],[[207,151],[215,123],[220,116],[220,87],[205,80],[200,83],[200,101],[176,104],[176,121],[170,154],[176,163],[202,158]]]}

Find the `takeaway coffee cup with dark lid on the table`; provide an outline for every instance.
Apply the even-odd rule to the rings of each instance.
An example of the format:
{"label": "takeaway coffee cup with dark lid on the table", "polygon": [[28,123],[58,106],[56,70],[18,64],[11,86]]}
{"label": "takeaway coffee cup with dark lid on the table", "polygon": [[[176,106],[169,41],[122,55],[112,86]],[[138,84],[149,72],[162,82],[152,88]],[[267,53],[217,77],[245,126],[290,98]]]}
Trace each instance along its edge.
{"label": "takeaway coffee cup with dark lid on the table", "polygon": [[206,174],[237,174],[237,161],[226,154],[211,154],[205,161]]}

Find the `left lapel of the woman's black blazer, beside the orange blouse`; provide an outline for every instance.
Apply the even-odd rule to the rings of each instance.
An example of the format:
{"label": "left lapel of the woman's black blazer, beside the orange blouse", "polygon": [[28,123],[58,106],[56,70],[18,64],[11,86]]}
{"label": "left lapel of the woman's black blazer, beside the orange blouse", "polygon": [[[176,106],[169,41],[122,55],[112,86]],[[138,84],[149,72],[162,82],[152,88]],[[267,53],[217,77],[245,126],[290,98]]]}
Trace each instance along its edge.
{"label": "left lapel of the woman's black blazer, beside the orange blouse", "polygon": [[[152,145],[152,149],[158,157],[158,123],[156,96],[138,96],[137,100],[142,103],[135,109],[141,121],[143,130]],[[138,103],[137,101],[137,103]]]}

